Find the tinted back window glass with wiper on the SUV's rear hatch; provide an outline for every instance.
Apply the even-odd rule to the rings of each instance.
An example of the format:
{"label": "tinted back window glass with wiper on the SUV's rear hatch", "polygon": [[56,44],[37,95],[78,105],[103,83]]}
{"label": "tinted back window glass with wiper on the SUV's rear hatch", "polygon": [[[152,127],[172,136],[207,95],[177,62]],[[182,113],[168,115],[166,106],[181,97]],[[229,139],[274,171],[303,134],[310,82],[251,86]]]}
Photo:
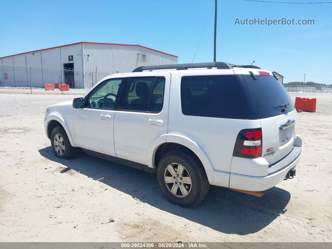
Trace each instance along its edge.
{"label": "tinted back window glass with wiper on the SUV's rear hatch", "polygon": [[[285,87],[274,76],[255,75],[255,80],[251,75],[243,75],[256,103],[259,118],[269,118],[285,114],[294,110],[290,95]],[[276,107],[289,103],[288,111],[281,112],[283,107]]]}

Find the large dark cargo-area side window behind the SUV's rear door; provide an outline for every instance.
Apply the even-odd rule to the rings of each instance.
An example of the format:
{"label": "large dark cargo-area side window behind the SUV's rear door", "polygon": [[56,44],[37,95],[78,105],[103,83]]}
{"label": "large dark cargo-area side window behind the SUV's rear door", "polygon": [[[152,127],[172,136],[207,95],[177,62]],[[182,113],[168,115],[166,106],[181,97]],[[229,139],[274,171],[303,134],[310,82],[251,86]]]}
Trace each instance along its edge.
{"label": "large dark cargo-area side window behind the SUV's rear door", "polygon": [[181,107],[184,115],[247,118],[235,75],[182,77]]}

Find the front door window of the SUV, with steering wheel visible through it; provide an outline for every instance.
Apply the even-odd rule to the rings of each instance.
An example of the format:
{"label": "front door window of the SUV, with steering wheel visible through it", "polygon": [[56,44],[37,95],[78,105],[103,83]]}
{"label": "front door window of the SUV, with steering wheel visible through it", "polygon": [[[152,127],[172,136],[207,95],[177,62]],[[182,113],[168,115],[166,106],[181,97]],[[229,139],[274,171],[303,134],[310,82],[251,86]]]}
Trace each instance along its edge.
{"label": "front door window of the SUV, with steering wheel visible through it", "polygon": [[114,109],[116,100],[119,101],[118,91],[124,78],[107,79],[96,87],[88,98],[87,107]]}

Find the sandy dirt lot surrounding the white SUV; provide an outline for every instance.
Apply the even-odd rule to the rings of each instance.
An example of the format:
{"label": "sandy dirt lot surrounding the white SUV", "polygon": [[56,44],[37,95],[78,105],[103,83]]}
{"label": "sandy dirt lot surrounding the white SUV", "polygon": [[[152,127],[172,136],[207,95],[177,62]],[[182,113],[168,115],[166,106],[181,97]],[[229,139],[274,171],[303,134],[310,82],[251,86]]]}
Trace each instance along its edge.
{"label": "sandy dirt lot surrounding the white SUV", "polygon": [[183,208],[165,200],[152,174],[53,155],[44,111],[75,95],[2,93],[0,241],[332,242],[332,94],[301,96],[316,97],[317,112],[298,113],[294,179],[261,198],[211,187]]}

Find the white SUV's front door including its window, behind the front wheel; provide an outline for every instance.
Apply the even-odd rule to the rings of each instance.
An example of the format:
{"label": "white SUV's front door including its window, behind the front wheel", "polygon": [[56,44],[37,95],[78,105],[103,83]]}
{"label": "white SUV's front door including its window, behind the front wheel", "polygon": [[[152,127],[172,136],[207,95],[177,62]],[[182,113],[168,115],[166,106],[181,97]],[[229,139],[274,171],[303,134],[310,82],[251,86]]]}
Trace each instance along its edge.
{"label": "white SUV's front door including its window, behind the front wheel", "polygon": [[74,109],[74,138],[78,147],[116,156],[113,122],[126,77],[99,83],[85,98],[85,107]]}

